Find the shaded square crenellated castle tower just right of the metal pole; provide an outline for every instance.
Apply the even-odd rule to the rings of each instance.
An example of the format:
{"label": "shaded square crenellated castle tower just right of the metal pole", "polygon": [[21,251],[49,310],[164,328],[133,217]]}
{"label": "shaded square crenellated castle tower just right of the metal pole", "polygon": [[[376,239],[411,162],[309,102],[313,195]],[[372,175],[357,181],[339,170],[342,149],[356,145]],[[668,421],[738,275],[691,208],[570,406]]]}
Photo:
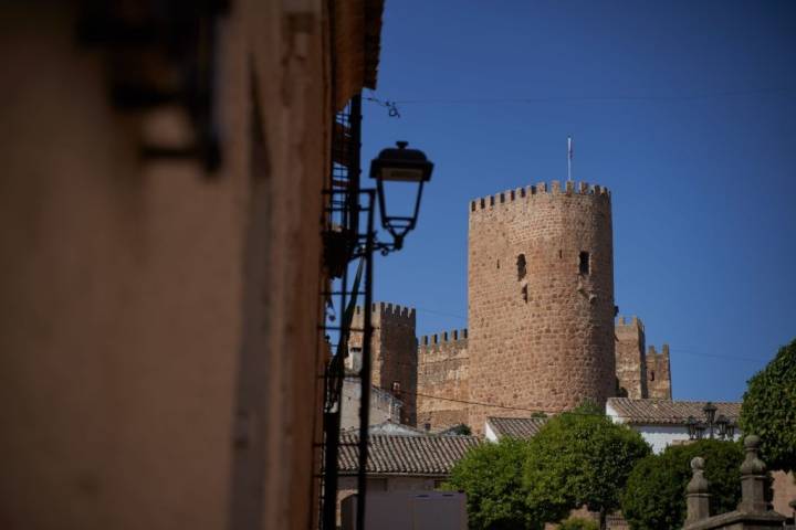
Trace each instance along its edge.
{"label": "shaded square crenellated castle tower just right of the metal pole", "polygon": [[[401,423],[416,425],[418,349],[415,309],[385,303],[374,304],[370,309],[374,328],[370,381],[374,386],[390,392],[404,403]],[[363,317],[363,309],[357,307],[349,340],[352,349],[362,348]]]}

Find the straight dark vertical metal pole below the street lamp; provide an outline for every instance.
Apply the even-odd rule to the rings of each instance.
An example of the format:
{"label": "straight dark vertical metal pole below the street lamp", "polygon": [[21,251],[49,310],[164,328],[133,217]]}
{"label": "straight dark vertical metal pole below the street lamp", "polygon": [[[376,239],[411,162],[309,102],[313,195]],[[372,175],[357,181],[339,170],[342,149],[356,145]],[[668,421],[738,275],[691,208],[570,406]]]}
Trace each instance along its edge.
{"label": "straight dark vertical metal pole below the street lamp", "polygon": [[376,198],[374,190],[363,190],[368,198],[367,236],[365,239],[365,311],[363,325],[363,360],[359,372],[359,469],[357,474],[357,530],[365,529],[365,498],[367,496],[367,453],[368,425],[370,423],[370,339],[373,337],[373,253],[376,234],[374,233],[374,210]]}

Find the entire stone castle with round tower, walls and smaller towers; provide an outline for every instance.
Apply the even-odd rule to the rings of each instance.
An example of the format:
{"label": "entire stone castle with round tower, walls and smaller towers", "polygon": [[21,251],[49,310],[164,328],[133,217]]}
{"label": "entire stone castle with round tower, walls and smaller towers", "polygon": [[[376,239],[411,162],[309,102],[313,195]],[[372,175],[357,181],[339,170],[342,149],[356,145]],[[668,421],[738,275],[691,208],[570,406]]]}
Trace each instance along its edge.
{"label": "entire stone castle with round tower, walls and smaller towers", "polygon": [[[472,201],[469,223],[469,329],[418,340],[413,309],[371,308],[373,384],[405,402],[404,423],[480,433],[488,416],[601,406],[612,395],[671,399],[669,347],[645,354],[641,320],[615,324],[607,189],[511,190]],[[360,347],[353,333],[352,359]]]}

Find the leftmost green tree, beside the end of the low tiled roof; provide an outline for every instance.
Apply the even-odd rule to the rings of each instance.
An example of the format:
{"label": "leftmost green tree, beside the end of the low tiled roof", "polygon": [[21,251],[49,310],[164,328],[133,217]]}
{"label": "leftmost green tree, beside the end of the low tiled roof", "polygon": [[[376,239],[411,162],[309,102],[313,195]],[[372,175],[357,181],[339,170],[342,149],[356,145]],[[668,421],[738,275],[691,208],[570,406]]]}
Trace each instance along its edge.
{"label": "leftmost green tree, beside the end of the low tiled roof", "polygon": [[443,488],[467,494],[471,529],[541,528],[525,505],[522,467],[526,453],[527,442],[506,437],[474,447],[453,466]]}

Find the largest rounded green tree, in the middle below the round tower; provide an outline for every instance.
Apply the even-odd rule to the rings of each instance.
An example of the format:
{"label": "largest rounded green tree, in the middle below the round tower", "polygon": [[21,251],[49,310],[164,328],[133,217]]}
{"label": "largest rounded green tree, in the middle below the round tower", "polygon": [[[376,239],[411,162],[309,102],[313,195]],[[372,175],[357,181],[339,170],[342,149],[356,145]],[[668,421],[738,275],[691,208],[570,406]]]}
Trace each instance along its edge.
{"label": "largest rounded green tree, in the middle below the round tower", "polygon": [[527,449],[524,485],[527,504],[546,522],[586,506],[600,513],[619,507],[628,475],[650,447],[636,431],[612,423],[593,405],[551,418]]}

